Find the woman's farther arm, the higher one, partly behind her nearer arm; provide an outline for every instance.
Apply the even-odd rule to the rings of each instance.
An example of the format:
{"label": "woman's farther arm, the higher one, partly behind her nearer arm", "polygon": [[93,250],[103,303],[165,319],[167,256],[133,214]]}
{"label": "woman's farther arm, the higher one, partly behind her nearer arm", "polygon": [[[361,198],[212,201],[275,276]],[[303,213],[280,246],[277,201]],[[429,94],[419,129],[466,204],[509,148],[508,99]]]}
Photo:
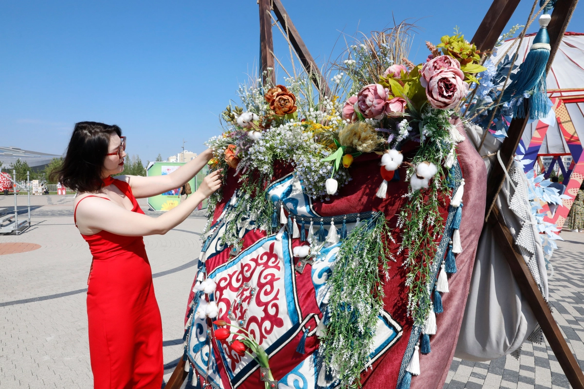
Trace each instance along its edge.
{"label": "woman's farther arm, the higher one, partly behind her nearer arm", "polygon": [[120,176],[116,178],[130,184],[132,193],[136,198],[152,197],[182,187],[182,185],[185,185],[187,181],[199,173],[212,157],[213,152],[211,149],[207,149],[195,159],[166,176]]}

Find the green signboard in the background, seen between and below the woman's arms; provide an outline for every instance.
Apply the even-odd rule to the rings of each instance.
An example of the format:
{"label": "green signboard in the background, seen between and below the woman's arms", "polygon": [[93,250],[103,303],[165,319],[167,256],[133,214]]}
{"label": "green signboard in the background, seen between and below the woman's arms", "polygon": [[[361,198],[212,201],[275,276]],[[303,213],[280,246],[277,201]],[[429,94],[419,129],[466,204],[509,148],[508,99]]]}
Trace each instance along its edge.
{"label": "green signboard in the background, seen between and below the woman's arms", "polygon": [[[171,174],[173,171],[183,166],[186,162],[151,162],[146,169],[146,176],[165,176]],[[193,177],[190,181],[190,188],[194,193],[199,184],[203,180],[207,171],[207,167]],[[154,197],[148,197],[148,205],[153,211],[170,211],[172,208],[180,204],[180,188],[175,188]],[[200,208],[206,208],[207,201],[205,200]]]}

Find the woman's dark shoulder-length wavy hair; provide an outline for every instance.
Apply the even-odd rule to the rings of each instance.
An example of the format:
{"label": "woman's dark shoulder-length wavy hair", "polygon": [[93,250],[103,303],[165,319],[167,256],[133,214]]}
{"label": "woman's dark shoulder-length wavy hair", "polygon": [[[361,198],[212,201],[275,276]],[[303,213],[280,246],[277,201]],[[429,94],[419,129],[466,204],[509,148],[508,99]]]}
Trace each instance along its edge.
{"label": "woman's dark shoulder-length wavy hair", "polygon": [[67,153],[61,167],[50,174],[52,181],[58,181],[67,188],[79,192],[96,192],[102,188],[101,174],[103,162],[109,149],[110,136],[121,136],[117,125],[107,125],[95,121],[75,124]]}

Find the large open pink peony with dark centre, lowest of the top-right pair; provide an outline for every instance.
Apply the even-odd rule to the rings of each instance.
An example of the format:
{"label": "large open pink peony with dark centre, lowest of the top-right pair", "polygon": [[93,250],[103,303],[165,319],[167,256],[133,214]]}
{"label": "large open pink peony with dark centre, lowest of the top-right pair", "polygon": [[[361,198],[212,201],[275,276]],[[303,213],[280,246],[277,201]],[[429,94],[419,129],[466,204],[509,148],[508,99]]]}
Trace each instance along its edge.
{"label": "large open pink peony with dark centre, lowest of the top-right pair", "polygon": [[460,69],[440,69],[432,75],[426,87],[426,97],[434,108],[454,108],[468,93],[468,83],[463,81]]}

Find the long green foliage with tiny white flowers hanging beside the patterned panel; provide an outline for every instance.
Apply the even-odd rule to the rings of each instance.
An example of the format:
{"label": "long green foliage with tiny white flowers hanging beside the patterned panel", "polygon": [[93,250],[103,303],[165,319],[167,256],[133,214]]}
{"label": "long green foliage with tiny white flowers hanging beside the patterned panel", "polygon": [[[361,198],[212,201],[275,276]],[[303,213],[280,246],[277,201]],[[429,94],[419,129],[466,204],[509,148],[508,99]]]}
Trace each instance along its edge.
{"label": "long green foliage with tiny white flowers hanging beside the patterned panel", "polygon": [[[388,278],[391,231],[383,213],[361,223],[340,246],[328,281],[328,310],[321,350],[343,387],[360,386],[370,359],[377,316],[383,310],[383,278]],[[383,277],[382,277],[383,276]]]}

